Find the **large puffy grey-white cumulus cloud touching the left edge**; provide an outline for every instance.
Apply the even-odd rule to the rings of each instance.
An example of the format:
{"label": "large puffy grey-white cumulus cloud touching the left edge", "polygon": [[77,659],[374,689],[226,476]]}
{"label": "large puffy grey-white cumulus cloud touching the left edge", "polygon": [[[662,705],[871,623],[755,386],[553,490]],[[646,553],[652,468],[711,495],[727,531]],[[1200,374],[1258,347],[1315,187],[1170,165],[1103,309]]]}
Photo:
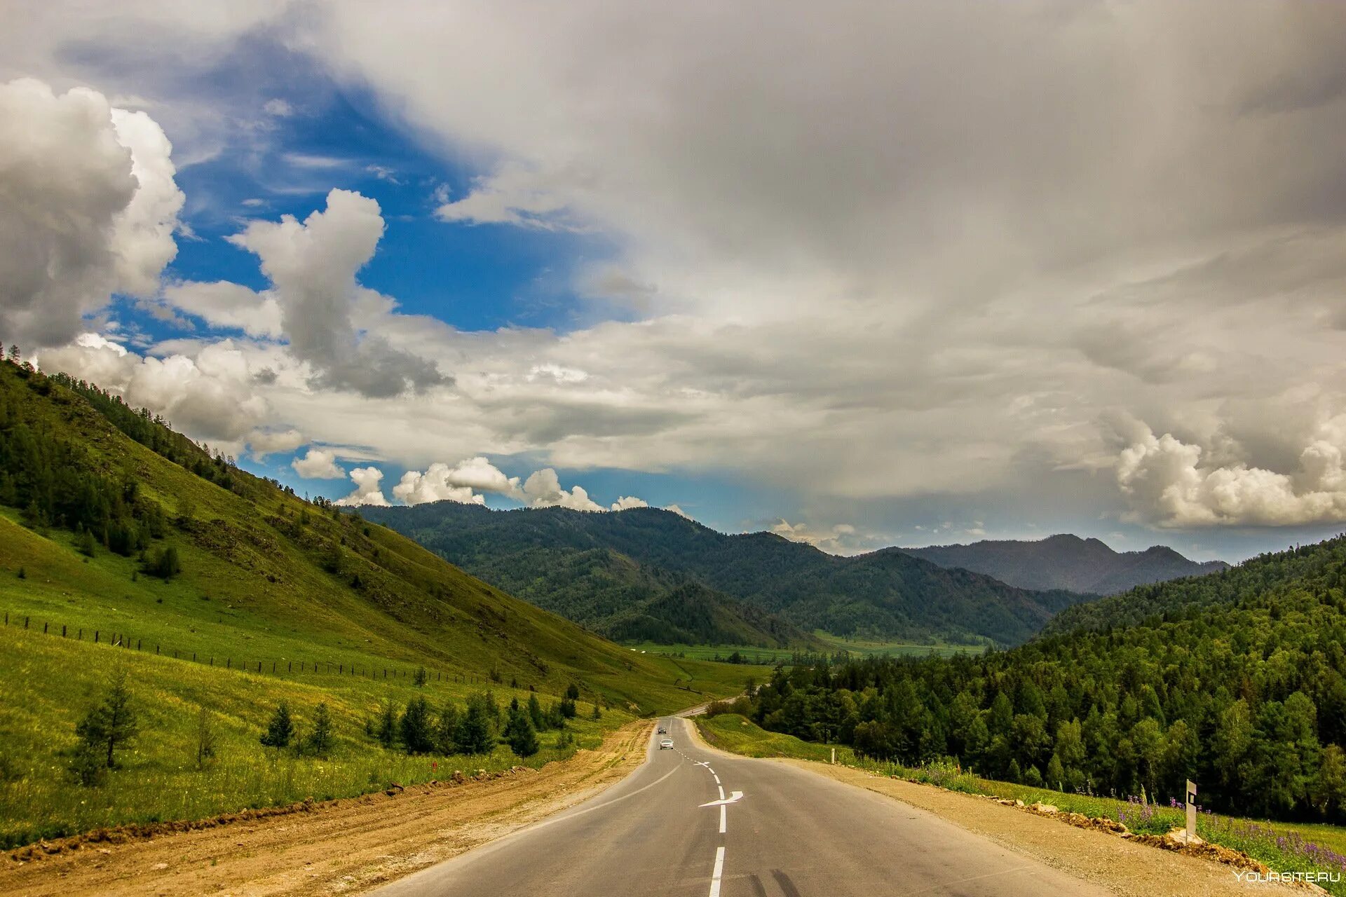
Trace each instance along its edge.
{"label": "large puffy grey-white cumulus cloud touching the left edge", "polygon": [[172,147],[96,90],[0,85],[0,331],[61,346],[113,293],[147,296],[176,254]]}

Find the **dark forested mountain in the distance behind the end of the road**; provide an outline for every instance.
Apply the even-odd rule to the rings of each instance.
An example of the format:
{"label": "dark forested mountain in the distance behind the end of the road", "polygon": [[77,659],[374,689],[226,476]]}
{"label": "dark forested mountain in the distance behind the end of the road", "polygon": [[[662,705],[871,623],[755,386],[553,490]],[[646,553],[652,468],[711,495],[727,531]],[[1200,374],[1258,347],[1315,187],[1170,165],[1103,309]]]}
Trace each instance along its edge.
{"label": "dark forested mountain in the distance behind the end of the road", "polygon": [[[436,502],[366,512],[463,569],[572,619],[591,613],[592,594],[638,601],[639,594],[666,596],[661,584],[693,581],[804,631],[1015,644],[1085,597],[1018,589],[895,550],[841,558],[769,533],[725,535],[657,508],[493,511]],[[622,585],[614,588],[614,580]],[[599,607],[614,604],[606,597]],[[639,607],[645,612],[649,605]],[[766,625],[756,623],[763,617],[748,619]],[[680,620],[670,623],[685,628]]]}

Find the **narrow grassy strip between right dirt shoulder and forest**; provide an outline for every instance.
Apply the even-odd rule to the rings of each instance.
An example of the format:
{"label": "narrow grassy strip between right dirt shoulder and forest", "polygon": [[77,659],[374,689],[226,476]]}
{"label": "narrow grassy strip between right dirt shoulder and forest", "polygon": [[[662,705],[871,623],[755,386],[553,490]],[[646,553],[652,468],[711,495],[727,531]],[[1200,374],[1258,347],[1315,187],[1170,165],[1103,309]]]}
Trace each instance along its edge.
{"label": "narrow grassy strip between right dirt shoulder and forest", "polygon": [[[779,732],[767,732],[736,713],[724,713],[711,718],[699,717],[696,725],[708,744],[746,757],[790,757],[817,763],[828,763],[832,757],[830,745],[804,741]],[[1141,807],[1125,800],[993,781],[952,767],[937,765],[911,769],[856,757],[855,752],[844,745],[836,746],[836,761],[950,791],[1022,800],[1026,804],[1044,803],[1058,807],[1063,812],[1116,819],[1140,834],[1162,835],[1183,824],[1180,808],[1152,807],[1143,812]],[[1303,845],[1316,845],[1338,854],[1346,854],[1346,828],[1338,826],[1264,823],[1203,812],[1198,818],[1197,831],[1202,838],[1233,850],[1241,850],[1276,871],[1346,871],[1337,863],[1312,857],[1314,851],[1306,851],[1302,847]],[[1346,894],[1346,882],[1329,885],[1327,890],[1333,894]]]}

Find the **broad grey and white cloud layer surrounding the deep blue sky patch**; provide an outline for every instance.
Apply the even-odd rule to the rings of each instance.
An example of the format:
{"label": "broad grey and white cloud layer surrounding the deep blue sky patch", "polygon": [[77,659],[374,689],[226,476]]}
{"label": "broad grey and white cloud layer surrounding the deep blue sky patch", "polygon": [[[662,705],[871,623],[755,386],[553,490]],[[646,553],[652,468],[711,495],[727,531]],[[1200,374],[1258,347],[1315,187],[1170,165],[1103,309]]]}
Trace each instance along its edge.
{"label": "broad grey and white cloud layer surrounding the deep blue sky patch", "polygon": [[[1338,4],[307,12],[129,3],[116,34],[147,58],[137,34],[203,58],[244,34],[303,47],[475,167],[425,198],[446,229],[600,235],[611,258],[575,265],[577,301],[621,304],[622,320],[463,332],[402,315],[358,278],[382,210],[334,190],[234,237],[268,289],[167,288],[168,307],[227,332],[155,359],[79,346],[54,360],[118,389],[172,358],[194,382],[209,367],[236,407],[258,403],[202,426],[396,457],[408,502],[594,510],[555,469],[604,467],[743,477],[812,510],[791,538],[839,543],[856,534],[832,527],[882,503],[1178,529],[1346,518]],[[42,71],[61,42],[97,38],[85,28],[34,15],[0,48]],[[152,122],[118,124],[97,94],[27,86],[5,102],[79,136],[0,141],[19,160],[7,196],[74,222],[0,210],[4,234],[34,241],[0,272],[0,324],[57,344],[171,258],[172,168]],[[202,344],[226,336],[241,367],[203,366]],[[549,468],[487,483],[439,463],[522,456]],[[386,500],[358,469],[357,496]]]}

